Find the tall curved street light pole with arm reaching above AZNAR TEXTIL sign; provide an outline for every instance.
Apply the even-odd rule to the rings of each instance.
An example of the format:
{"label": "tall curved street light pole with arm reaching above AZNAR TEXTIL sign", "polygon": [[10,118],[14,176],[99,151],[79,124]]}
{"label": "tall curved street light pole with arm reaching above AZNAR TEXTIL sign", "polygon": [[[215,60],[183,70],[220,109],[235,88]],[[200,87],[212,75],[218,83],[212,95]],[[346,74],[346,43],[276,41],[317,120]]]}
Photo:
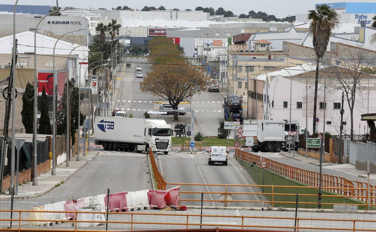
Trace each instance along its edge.
{"label": "tall curved street light pole with arm reaching above AZNAR TEXTIL sign", "polygon": [[[67,8],[67,9],[71,9],[71,8]],[[38,75],[36,73],[36,32],[38,31],[38,27],[39,27],[39,24],[44,20],[45,17],[47,17],[48,15],[51,15],[53,13],[56,13],[56,12],[60,12],[60,11],[65,11],[66,9],[61,9],[61,10],[58,10],[58,11],[53,11],[47,15],[44,15],[41,20],[39,20],[38,24],[36,24],[36,27],[35,27],[35,30],[34,30],[34,117],[33,117],[33,161],[34,161],[34,165],[33,165],[33,185],[36,186],[38,185],[38,177],[37,177],[37,173],[36,173],[36,165],[37,165],[37,158],[36,158],[36,154],[38,152],[37,150],[37,146],[36,146],[36,127],[37,127],[37,111],[38,111],[38,99],[37,99],[37,96],[38,96]]]}

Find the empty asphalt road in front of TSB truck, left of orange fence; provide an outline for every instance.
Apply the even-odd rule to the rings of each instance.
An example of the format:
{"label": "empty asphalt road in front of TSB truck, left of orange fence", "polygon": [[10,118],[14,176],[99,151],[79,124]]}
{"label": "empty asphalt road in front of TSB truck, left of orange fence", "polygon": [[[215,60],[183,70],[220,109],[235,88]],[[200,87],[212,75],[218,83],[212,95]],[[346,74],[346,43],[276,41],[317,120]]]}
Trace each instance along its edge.
{"label": "empty asphalt road in front of TSB truck, left of orange fence", "polygon": [[[32,199],[15,200],[14,209],[31,209],[35,206],[75,198],[122,191],[152,189],[149,164],[145,154],[134,152],[99,153],[59,187],[48,194]],[[81,158],[82,159],[82,158]],[[10,202],[1,202],[0,208],[10,208]]]}

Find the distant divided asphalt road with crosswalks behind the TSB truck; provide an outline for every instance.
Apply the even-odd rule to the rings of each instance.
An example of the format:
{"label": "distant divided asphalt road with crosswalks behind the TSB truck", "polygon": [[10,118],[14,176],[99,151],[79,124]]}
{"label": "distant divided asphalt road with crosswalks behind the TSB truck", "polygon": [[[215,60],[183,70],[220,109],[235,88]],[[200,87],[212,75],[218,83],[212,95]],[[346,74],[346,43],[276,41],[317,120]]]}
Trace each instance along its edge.
{"label": "distant divided asphalt road with crosswalks behind the TSB truck", "polygon": [[[118,98],[114,99],[116,102],[115,109],[125,110],[128,114],[132,113],[135,118],[143,118],[146,109],[159,109],[160,102],[167,102],[165,99],[153,97],[150,93],[141,92],[139,83],[143,81],[142,78],[137,78],[135,70],[136,65],[141,65],[144,77],[150,72],[150,64],[146,58],[125,58],[124,63],[129,62],[130,68],[126,70],[124,76],[118,77],[122,79],[120,83],[120,90]],[[120,81],[120,80],[118,80]],[[180,103],[180,106],[186,109],[194,110],[195,125],[194,132],[202,132],[206,136],[216,136],[218,121],[223,120],[223,98],[218,92],[208,92],[207,90],[195,94],[188,102]],[[191,125],[191,115],[179,116],[179,121],[174,121],[173,115],[153,115],[152,118],[164,119],[173,128],[175,124]]]}

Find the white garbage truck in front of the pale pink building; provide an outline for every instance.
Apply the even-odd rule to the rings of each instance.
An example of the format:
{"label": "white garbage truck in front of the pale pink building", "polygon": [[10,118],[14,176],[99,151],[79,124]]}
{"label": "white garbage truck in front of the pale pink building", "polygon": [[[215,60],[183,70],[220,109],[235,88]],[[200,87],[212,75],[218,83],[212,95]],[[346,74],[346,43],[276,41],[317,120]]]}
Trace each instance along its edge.
{"label": "white garbage truck in front of the pale pink building", "polygon": [[[289,146],[296,149],[299,137],[290,137],[290,123],[276,120],[244,120],[243,137],[246,138],[246,147],[252,147],[254,152],[280,152]],[[298,131],[298,135],[305,132],[297,121],[291,121],[291,130]]]}

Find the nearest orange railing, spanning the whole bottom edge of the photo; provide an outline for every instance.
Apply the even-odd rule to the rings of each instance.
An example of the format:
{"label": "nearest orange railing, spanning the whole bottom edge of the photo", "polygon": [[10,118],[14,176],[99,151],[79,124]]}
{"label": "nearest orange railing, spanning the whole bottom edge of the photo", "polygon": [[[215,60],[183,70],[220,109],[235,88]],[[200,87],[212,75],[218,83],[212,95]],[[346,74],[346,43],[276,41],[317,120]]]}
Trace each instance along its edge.
{"label": "nearest orange railing, spanning the whole bottom edge of the photo", "polygon": [[[11,212],[11,210],[0,210],[0,212]],[[51,219],[24,219],[21,217],[22,212],[35,212],[32,210],[13,210],[14,214],[18,214],[18,218],[14,219],[0,219],[0,221],[14,221],[17,222],[17,228],[4,228],[1,229],[1,231],[70,231],[70,232],[102,232],[106,230],[90,230],[90,229],[77,229],[77,223],[82,223],[82,222],[89,222],[89,223],[117,223],[117,224],[130,224],[130,231],[133,230],[133,225],[136,224],[152,224],[152,225],[180,225],[180,226],[186,226],[186,229],[188,229],[188,226],[225,226],[225,227],[235,227],[235,228],[279,228],[279,229],[296,229],[296,231],[299,231],[299,229],[307,229],[307,230],[348,230],[348,231],[376,231],[376,226],[374,226],[373,223],[376,223],[376,220],[362,220],[362,219],[342,219],[342,218],[301,218],[301,217],[266,217],[266,216],[246,216],[246,215],[200,215],[200,214],[169,214],[169,213],[139,213],[139,212],[88,212],[88,211],[38,211],[38,212],[49,212],[49,213],[75,213],[76,214],[76,220],[74,221],[69,221],[69,220],[51,220]],[[130,216],[130,221],[127,220],[120,220],[120,221],[91,221],[91,220],[77,220],[77,214],[121,214],[121,215],[129,215]],[[136,215],[143,215],[143,221],[137,221],[135,216]],[[167,222],[167,221],[162,221],[162,222],[156,222],[153,221],[155,219],[155,216],[173,216],[173,217],[184,217],[186,218],[185,223],[178,223],[178,222]],[[150,218],[149,218],[150,216]],[[197,218],[197,217],[207,217],[207,218],[222,218],[222,220],[218,221],[225,221],[227,218],[233,218],[235,220],[236,218],[241,219],[241,224],[228,224],[228,223],[192,223],[190,222],[190,219],[192,218]],[[145,218],[146,217],[146,218]],[[248,220],[244,221],[244,219],[258,219],[258,220]],[[279,225],[264,225],[264,224],[258,224],[259,219],[274,219],[274,220],[286,220],[286,223],[281,223]],[[297,222],[296,226],[292,226],[293,221]],[[24,224],[23,222],[32,222],[32,221],[40,221],[40,222],[74,222],[75,226],[74,229],[44,229],[43,227],[39,227],[37,229],[30,229],[30,228],[24,228],[21,227],[21,224]],[[179,221],[179,220],[177,220]],[[302,221],[310,221],[310,226],[299,226],[299,223]],[[313,222],[316,221],[317,226],[312,226]],[[330,223],[325,223],[325,222],[330,222],[330,221],[337,221],[340,222],[343,227],[331,227],[331,226],[326,226],[327,224],[330,225]],[[365,224],[362,224],[365,223]],[[291,226],[287,226],[287,224],[291,224]],[[320,226],[320,227],[318,227]],[[326,227],[325,227],[326,226]],[[111,231],[111,230],[109,230]]]}

